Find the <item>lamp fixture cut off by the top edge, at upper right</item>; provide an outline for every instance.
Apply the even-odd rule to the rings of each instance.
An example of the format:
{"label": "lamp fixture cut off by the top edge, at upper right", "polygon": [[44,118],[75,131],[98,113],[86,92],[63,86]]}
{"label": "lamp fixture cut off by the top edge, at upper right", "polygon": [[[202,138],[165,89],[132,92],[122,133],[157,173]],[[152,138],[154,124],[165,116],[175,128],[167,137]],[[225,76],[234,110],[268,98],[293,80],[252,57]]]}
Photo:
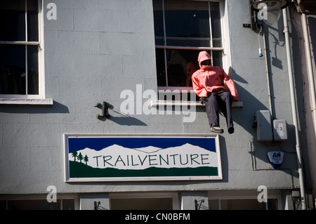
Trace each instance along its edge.
{"label": "lamp fixture cut off by the top edge, at upper right", "polygon": [[258,19],[263,20],[268,25],[274,25],[281,10],[289,5],[287,0],[254,0],[251,7],[254,11],[258,11]]}

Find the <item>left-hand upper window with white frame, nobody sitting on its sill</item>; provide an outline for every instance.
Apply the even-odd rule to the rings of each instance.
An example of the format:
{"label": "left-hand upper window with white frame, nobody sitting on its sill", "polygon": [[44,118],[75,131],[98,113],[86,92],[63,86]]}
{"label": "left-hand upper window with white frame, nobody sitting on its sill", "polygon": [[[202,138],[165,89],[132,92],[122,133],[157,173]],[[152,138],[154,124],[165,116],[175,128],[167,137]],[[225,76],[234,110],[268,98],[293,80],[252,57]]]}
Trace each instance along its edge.
{"label": "left-hand upper window with white frame, nobody sitting on its sill", "polygon": [[0,98],[44,98],[41,1],[0,2]]}

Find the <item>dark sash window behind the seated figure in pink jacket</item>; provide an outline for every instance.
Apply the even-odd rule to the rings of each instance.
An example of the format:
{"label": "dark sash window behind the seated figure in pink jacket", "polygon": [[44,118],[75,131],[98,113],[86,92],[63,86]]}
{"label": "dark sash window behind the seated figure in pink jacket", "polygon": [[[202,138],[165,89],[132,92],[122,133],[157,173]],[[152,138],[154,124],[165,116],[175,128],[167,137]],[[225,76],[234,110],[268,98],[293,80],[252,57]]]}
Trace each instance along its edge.
{"label": "dark sash window behind the seated figure in pink jacket", "polygon": [[153,0],[158,90],[192,90],[200,51],[223,66],[219,1]]}

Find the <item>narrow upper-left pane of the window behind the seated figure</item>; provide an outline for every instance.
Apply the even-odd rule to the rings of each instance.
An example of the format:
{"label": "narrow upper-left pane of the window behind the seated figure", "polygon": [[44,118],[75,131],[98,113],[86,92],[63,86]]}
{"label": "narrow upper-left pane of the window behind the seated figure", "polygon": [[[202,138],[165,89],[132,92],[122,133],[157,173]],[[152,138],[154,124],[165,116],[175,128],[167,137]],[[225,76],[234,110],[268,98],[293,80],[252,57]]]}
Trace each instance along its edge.
{"label": "narrow upper-left pane of the window behind the seated figure", "polygon": [[156,45],[164,45],[164,19],[162,0],[152,1],[154,5],[154,37]]}

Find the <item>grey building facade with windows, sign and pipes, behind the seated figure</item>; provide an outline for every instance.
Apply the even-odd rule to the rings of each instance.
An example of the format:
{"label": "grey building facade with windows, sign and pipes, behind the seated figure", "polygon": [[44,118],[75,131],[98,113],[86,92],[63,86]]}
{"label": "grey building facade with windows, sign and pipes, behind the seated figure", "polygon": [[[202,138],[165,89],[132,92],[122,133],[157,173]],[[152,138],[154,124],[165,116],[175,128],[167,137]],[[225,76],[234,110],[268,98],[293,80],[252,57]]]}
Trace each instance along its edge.
{"label": "grey building facade with windows, sign and pipes, behind the seated figure", "polygon": [[[1,209],[315,208],[309,58],[294,4],[272,25],[248,0],[0,7]],[[223,114],[224,133],[211,133],[187,82],[200,51],[235,81],[235,133]]]}

